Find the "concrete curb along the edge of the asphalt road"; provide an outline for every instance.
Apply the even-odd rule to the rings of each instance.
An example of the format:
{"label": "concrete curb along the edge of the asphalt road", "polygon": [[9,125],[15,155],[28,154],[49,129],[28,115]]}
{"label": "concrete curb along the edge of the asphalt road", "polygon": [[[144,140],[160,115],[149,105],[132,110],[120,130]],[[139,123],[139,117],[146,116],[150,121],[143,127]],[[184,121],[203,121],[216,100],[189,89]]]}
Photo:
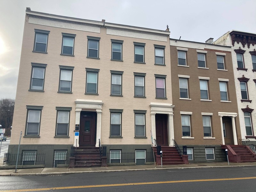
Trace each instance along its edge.
{"label": "concrete curb along the edge of the asphalt road", "polygon": [[147,170],[168,170],[168,169],[203,169],[221,167],[247,167],[256,165],[227,165],[227,166],[202,166],[202,167],[168,167],[168,168],[148,168],[148,169],[122,169],[122,170],[102,170],[102,171],[76,171],[76,172],[50,172],[50,173],[2,173],[0,176],[40,176],[40,175],[67,175],[76,173],[97,173],[97,172],[121,172],[121,171],[147,171]]}

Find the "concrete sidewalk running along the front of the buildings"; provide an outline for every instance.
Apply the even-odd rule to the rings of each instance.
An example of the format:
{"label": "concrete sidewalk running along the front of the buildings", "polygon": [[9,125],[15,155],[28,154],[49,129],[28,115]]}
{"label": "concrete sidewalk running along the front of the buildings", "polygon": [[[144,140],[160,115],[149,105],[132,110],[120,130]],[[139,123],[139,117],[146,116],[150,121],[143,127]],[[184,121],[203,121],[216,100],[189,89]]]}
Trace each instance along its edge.
{"label": "concrete sidewalk running along the front of the buildings", "polygon": [[[0,160],[0,165],[3,160]],[[234,166],[256,166],[256,162],[252,163],[229,163],[228,162],[191,162],[190,164],[179,165],[120,165],[108,167],[90,167],[90,168],[28,168],[28,169],[0,169],[0,176],[21,176],[21,175],[63,175],[74,173],[91,173],[91,172],[117,172],[117,171],[138,171],[138,170],[161,170],[161,169],[189,169],[189,168],[213,168],[213,167],[234,167]]]}

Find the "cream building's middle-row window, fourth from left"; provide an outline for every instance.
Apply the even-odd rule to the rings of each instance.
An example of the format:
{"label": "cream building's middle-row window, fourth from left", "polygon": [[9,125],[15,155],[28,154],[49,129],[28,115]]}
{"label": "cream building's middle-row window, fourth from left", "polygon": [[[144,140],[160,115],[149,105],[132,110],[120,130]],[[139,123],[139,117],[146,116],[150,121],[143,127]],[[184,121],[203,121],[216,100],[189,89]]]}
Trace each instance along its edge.
{"label": "cream building's middle-row window, fourth from left", "polygon": [[111,96],[122,96],[122,75],[123,71],[112,71],[111,73]]}

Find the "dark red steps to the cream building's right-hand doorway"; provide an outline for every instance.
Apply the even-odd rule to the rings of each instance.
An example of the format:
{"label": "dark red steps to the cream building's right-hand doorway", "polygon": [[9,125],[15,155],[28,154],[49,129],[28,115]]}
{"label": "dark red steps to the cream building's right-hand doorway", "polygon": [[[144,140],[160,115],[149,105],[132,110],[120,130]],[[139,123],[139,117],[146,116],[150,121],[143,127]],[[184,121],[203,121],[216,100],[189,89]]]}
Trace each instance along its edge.
{"label": "dark red steps to the cream building's right-hand doorway", "polygon": [[[157,155],[157,148],[153,147],[153,150],[156,156],[156,164],[161,165],[161,156]],[[163,151],[163,165],[185,164],[175,147],[161,146],[161,150]]]}

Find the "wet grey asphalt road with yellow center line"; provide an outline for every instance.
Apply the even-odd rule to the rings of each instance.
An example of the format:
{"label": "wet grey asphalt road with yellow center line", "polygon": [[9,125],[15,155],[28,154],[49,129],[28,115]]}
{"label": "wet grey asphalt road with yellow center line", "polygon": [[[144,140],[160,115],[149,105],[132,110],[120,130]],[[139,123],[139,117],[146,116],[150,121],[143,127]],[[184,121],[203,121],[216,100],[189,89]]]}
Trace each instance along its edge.
{"label": "wet grey asphalt road with yellow center line", "polygon": [[0,191],[255,191],[256,166],[0,177]]}

